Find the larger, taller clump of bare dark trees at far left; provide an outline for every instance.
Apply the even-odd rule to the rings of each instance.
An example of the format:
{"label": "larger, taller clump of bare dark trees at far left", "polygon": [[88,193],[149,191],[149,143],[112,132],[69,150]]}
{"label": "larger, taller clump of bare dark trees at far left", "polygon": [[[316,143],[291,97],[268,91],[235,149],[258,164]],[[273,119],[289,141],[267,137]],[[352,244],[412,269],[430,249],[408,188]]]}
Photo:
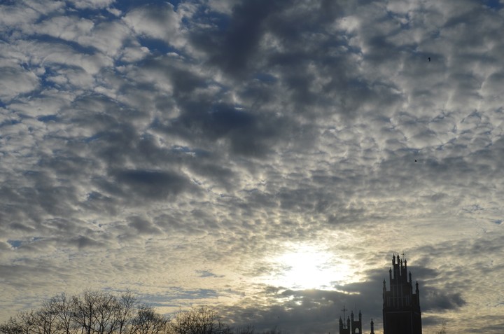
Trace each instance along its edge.
{"label": "larger, taller clump of bare dark trees at far left", "polygon": [[161,334],[168,319],[138,302],[132,293],[119,296],[85,291],[64,293],[43,302],[41,309],[20,312],[0,326],[4,334]]}

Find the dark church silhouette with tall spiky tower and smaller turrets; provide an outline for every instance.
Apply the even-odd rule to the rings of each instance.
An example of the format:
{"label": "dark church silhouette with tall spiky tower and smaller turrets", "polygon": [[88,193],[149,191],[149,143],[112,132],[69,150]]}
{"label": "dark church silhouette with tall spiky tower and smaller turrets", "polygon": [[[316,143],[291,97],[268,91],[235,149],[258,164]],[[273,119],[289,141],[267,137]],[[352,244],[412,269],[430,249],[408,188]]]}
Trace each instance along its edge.
{"label": "dark church silhouette with tall spiky tower and smaller turrets", "polygon": [[[404,258],[404,254],[402,254]],[[421,334],[420,293],[418,281],[413,291],[412,274],[407,272],[407,261],[403,261],[399,254],[392,256],[392,265],[388,270],[388,286],[384,279],[383,286],[383,326],[384,334]],[[348,311],[343,306],[343,319]],[[361,334],[362,314],[358,313],[358,320],[353,312],[346,322],[339,316],[339,334]],[[371,319],[371,334],[374,334],[374,322]]]}

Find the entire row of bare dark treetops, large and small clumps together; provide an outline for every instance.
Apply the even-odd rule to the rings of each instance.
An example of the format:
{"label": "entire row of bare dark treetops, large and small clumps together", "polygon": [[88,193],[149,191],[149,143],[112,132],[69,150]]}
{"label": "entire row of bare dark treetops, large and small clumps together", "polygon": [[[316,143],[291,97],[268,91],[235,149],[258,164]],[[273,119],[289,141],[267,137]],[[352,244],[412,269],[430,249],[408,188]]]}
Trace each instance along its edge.
{"label": "entire row of bare dark treetops, large and small clumps together", "polygon": [[[181,310],[169,319],[129,291],[113,295],[62,293],[38,310],[20,312],[0,325],[0,334],[254,334],[252,325],[232,330],[209,307]],[[263,334],[279,334],[274,328]],[[260,334],[260,333],[258,333]]]}

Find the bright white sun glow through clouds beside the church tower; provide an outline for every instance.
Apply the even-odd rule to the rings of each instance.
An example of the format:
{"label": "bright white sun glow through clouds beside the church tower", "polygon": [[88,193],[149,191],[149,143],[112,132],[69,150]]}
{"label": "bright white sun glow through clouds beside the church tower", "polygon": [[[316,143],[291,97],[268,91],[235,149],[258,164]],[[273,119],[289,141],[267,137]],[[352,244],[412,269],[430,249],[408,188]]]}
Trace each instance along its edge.
{"label": "bright white sun glow through clouds beside the church tower", "polygon": [[309,244],[289,245],[269,263],[274,270],[265,283],[283,288],[333,290],[360,279],[350,260]]}

